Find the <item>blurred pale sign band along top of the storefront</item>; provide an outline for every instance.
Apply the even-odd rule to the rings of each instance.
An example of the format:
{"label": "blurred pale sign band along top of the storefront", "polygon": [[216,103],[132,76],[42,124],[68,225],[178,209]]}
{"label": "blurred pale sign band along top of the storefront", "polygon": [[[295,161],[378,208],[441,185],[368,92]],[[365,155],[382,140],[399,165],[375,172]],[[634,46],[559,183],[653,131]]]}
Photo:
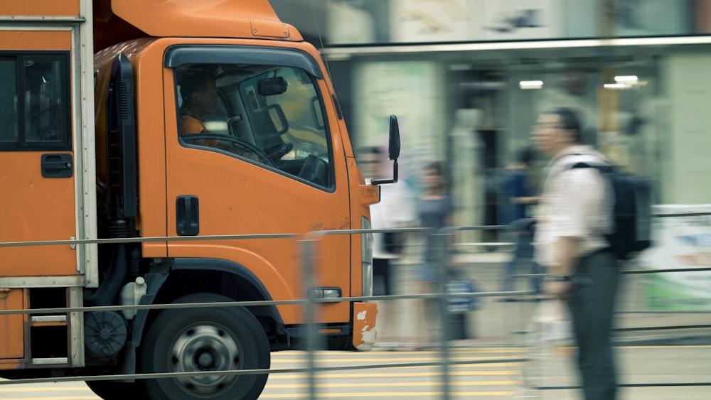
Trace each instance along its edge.
{"label": "blurred pale sign band along top of the storefront", "polygon": [[[289,0],[294,4],[304,1]],[[600,18],[606,2],[600,0],[326,0],[326,42],[444,43],[710,31],[711,0],[607,1],[614,4],[610,14],[614,23],[611,31],[603,33]],[[304,29],[313,22],[313,17],[303,21]]]}

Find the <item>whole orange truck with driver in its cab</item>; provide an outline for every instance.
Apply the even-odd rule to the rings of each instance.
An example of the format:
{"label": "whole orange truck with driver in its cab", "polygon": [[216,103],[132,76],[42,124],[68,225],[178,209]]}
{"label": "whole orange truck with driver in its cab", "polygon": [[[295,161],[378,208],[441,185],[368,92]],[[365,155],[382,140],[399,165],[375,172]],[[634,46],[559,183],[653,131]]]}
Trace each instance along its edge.
{"label": "whole orange truck with driver in its cab", "polygon": [[[324,235],[304,285],[292,234],[370,229],[387,180],[365,183],[319,52],[266,0],[2,1],[0,87],[0,377],[267,369],[311,331],[268,301],[372,294],[365,232]],[[393,159],[399,140],[392,119]],[[224,301],[267,304],[115,307]],[[313,309],[329,349],[373,345],[374,303]],[[234,400],[266,381],[87,384]]]}

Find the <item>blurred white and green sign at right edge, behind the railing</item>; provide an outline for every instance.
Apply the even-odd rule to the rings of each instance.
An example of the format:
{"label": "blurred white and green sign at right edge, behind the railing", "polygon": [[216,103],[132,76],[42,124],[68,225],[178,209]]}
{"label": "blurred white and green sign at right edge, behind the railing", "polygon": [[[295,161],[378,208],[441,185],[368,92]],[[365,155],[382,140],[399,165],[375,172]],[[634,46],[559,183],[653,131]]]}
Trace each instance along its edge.
{"label": "blurred white and green sign at right edge, behind the railing", "polygon": [[[711,268],[711,205],[658,205],[654,246],[640,254],[645,269]],[[651,310],[711,310],[711,271],[648,274],[644,281]]]}

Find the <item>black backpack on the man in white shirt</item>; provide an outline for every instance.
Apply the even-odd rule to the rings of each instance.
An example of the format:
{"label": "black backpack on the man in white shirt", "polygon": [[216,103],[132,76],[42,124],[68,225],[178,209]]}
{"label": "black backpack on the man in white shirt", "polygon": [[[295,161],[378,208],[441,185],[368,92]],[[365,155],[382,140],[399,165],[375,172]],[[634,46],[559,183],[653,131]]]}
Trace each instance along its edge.
{"label": "black backpack on the man in white shirt", "polygon": [[651,246],[652,204],[648,179],[612,166],[576,163],[571,168],[595,168],[609,181],[614,200],[614,232],[605,236],[617,259],[631,259]]}

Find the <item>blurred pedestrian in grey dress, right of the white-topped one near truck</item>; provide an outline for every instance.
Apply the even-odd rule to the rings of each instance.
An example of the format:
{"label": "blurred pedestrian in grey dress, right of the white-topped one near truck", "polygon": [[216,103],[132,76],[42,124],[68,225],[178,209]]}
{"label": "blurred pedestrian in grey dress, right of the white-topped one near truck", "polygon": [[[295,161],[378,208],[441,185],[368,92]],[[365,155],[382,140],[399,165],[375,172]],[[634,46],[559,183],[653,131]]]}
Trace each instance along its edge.
{"label": "blurred pedestrian in grey dress, right of the white-topped one near truck", "polygon": [[[451,226],[452,215],[454,214],[454,201],[447,190],[447,183],[444,179],[441,163],[430,163],[422,169],[421,188],[415,209],[419,218],[419,225],[432,229],[432,233],[437,233],[439,229]],[[428,234],[424,247],[424,260],[419,264],[416,280],[418,281],[419,293],[437,293],[439,289],[439,271],[442,261],[438,254],[437,237]],[[447,246],[447,244],[445,244]],[[447,249],[443,249],[447,254]],[[418,307],[417,332],[425,333],[425,344],[432,342],[429,334],[429,327],[432,326],[432,316],[437,315],[437,301],[423,299],[422,305]]]}

